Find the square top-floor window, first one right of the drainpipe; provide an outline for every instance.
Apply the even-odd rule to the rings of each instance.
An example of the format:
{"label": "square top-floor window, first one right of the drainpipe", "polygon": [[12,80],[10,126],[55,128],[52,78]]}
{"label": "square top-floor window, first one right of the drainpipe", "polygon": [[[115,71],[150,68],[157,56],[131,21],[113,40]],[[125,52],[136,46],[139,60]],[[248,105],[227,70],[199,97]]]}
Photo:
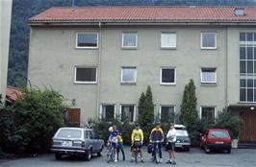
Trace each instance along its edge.
{"label": "square top-floor window, first one right of the drainpipe", "polygon": [[137,48],[138,47],[138,34],[137,33],[123,33],[122,34],[122,47],[123,48]]}

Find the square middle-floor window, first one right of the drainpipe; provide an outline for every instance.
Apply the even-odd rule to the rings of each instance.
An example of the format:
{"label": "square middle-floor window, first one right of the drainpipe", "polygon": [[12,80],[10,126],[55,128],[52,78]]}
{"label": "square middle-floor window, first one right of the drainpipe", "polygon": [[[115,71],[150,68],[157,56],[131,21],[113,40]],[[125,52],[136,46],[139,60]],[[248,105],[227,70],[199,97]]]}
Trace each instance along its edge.
{"label": "square middle-floor window, first one right of the drainpipe", "polygon": [[121,83],[136,83],[137,69],[136,67],[122,67]]}

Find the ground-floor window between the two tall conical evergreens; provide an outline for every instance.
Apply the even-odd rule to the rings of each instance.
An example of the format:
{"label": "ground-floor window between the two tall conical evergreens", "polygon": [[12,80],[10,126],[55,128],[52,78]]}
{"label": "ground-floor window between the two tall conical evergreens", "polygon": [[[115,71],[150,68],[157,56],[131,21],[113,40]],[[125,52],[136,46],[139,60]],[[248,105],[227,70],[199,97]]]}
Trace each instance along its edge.
{"label": "ground-floor window between the two tall conical evergreens", "polygon": [[174,123],[175,121],[175,108],[171,106],[160,107],[160,119],[162,123]]}

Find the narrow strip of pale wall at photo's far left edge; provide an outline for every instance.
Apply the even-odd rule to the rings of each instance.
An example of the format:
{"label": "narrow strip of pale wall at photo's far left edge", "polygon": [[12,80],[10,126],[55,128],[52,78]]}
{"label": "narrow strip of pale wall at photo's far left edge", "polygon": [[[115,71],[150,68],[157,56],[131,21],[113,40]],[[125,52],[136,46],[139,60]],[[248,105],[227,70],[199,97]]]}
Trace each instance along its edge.
{"label": "narrow strip of pale wall at photo's far left edge", "polygon": [[3,102],[7,85],[12,3],[12,0],[0,1],[0,94]]}

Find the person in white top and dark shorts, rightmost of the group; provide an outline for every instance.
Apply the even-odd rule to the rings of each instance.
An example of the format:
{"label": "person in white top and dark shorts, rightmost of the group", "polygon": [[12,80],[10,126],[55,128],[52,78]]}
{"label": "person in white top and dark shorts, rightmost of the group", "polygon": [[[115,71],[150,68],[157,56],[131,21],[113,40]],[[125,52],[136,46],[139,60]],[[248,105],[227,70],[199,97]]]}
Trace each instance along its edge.
{"label": "person in white top and dark shorts, rightmost of the group", "polygon": [[174,124],[171,123],[169,125],[169,131],[166,134],[166,139],[167,139],[167,151],[169,154],[169,160],[166,161],[166,163],[170,163],[175,165],[176,164],[176,155],[175,155],[175,142],[176,142],[176,130],[174,128]]}

